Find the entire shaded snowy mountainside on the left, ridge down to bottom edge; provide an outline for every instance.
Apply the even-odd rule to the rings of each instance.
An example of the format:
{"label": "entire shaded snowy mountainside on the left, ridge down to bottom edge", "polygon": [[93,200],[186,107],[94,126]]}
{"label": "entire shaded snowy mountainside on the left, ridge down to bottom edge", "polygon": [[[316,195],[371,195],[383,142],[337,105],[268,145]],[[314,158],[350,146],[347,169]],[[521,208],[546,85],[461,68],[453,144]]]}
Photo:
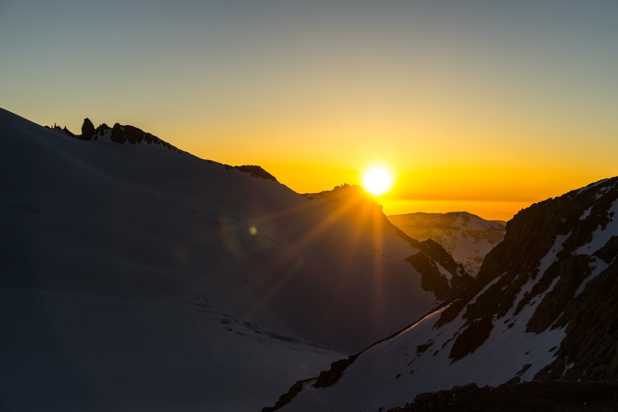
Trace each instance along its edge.
{"label": "entire shaded snowy mountainside on the left, ridge down to bottom edge", "polygon": [[[195,408],[254,410],[341,358],[298,339],[358,350],[432,308],[424,279],[450,273],[358,199],[333,209],[259,167],[198,159],[132,126],[84,122],[75,136],[0,109],[0,144],[0,324],[10,336],[0,398],[15,409],[109,399],[115,410],[124,400],[170,410],[187,393]],[[195,296],[217,317],[277,332],[247,340],[240,326],[195,318]],[[190,389],[157,378],[182,371]],[[37,395],[45,407],[24,398],[29,388],[50,388]]]}

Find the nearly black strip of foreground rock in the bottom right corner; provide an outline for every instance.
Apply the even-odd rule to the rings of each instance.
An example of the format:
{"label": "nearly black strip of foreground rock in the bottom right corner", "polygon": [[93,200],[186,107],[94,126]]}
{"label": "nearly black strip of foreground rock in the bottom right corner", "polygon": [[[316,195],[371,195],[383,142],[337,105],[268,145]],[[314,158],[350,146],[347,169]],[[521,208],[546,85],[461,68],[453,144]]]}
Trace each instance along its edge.
{"label": "nearly black strip of foreground rock in the bottom right corner", "polygon": [[421,393],[413,403],[391,411],[618,411],[618,383],[546,380],[499,387],[466,385]]}

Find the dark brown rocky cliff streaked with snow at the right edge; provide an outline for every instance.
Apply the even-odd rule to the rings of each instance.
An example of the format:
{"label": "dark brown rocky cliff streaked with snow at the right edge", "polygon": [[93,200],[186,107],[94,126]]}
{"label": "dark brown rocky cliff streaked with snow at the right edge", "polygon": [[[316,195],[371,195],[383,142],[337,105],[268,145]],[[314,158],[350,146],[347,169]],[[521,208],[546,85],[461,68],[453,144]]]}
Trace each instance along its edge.
{"label": "dark brown rocky cliff streaked with snow at the right edge", "polygon": [[[615,333],[608,336],[605,327],[618,314],[617,293],[612,291],[618,291],[612,287],[618,270],[617,198],[618,178],[614,178],[520,211],[507,224],[505,241],[488,255],[479,273],[477,288],[490,282],[491,286],[472,306],[466,298],[455,302],[439,323],[467,308],[466,330],[485,336],[493,326],[492,319],[505,318],[509,310],[515,318],[534,305],[525,332],[566,328],[567,333],[556,360],[536,378],[560,378],[567,374],[565,369],[572,369],[568,373],[571,377],[616,377],[618,357],[614,361],[615,354],[607,353],[606,345],[613,340],[612,349],[618,349],[614,345],[618,328],[609,328]],[[582,342],[588,334],[597,342]],[[453,358],[477,348],[477,343],[463,337],[459,341],[453,345]],[[602,354],[599,346],[604,348]],[[597,347],[593,353],[586,351],[593,347]],[[595,365],[599,363],[604,366]]]}

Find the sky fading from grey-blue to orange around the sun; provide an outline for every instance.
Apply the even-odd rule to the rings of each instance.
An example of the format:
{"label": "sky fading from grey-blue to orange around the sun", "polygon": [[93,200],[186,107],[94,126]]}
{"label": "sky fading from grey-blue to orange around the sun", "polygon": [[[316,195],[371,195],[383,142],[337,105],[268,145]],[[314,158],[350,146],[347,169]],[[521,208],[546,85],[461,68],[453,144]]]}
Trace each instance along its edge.
{"label": "sky fading from grey-blue to orange around the sun", "polygon": [[516,211],[618,174],[618,2],[0,0],[0,106],[133,124],[387,214]]}

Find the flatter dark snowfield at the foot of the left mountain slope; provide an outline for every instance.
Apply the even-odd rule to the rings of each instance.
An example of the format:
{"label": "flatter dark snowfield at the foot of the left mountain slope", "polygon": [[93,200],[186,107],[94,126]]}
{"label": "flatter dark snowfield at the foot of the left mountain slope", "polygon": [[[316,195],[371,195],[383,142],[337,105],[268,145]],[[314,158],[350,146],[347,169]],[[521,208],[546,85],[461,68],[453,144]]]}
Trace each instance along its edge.
{"label": "flatter dark snowfield at the foot of the left mountain slope", "polygon": [[258,411],[343,356],[197,299],[0,288],[0,311],[6,412]]}

